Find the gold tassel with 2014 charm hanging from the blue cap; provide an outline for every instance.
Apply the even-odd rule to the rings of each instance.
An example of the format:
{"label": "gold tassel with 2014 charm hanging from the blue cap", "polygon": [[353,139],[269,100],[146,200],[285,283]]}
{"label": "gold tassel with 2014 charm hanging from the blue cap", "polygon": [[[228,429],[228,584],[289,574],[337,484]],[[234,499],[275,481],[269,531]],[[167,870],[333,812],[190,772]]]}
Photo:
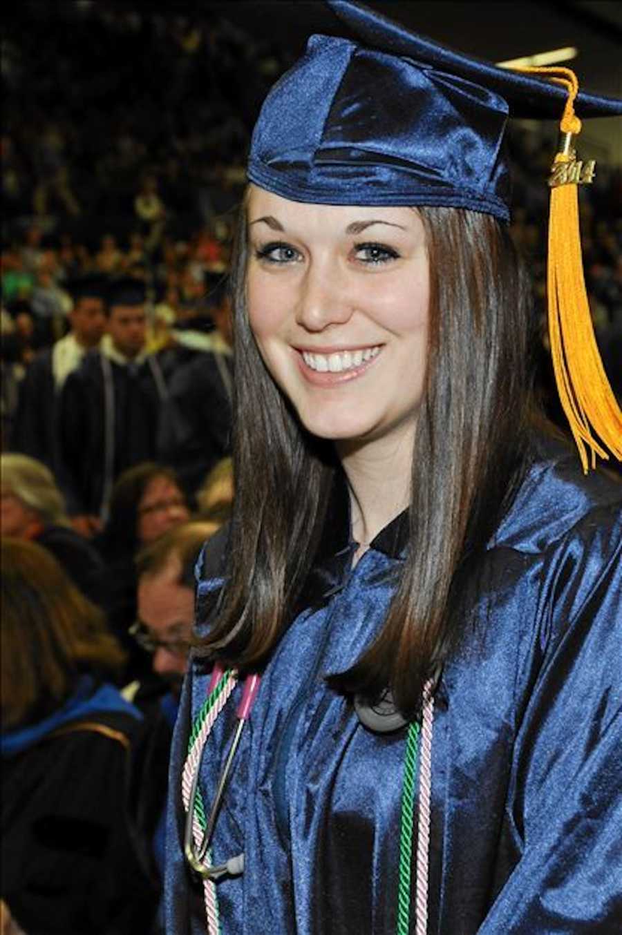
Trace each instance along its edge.
{"label": "gold tassel with 2014 charm hanging from the blue cap", "polygon": [[548,327],[557,393],[587,473],[586,449],[591,450],[592,468],[596,467],[597,454],[609,458],[606,449],[622,460],[622,411],[602,366],[594,336],[579,232],[577,186],[591,182],[594,161],[578,162],[571,147],[572,137],[581,131],[581,121],[574,113],[578,82],[570,68],[516,70],[550,78],[568,91],[560,122],[561,147],[549,179]]}

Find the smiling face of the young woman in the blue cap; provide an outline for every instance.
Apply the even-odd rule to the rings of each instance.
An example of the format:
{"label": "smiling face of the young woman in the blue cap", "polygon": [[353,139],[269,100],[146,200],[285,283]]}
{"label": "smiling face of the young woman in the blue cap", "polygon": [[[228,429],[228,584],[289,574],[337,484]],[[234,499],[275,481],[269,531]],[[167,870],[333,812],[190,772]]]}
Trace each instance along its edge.
{"label": "smiling face of the young woman in the blue cap", "polygon": [[410,208],[300,204],[251,187],[248,311],[313,434],[412,434],[427,362],[424,227]]}

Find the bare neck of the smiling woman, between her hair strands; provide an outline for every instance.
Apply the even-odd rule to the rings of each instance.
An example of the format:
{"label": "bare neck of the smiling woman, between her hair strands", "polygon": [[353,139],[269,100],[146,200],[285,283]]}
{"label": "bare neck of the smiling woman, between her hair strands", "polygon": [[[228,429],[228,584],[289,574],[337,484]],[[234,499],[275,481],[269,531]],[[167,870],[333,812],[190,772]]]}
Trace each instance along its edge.
{"label": "bare neck of the smiling woman, between her hair strands", "polygon": [[361,554],[411,501],[412,435],[390,441],[337,444],[350,487],[352,538]]}

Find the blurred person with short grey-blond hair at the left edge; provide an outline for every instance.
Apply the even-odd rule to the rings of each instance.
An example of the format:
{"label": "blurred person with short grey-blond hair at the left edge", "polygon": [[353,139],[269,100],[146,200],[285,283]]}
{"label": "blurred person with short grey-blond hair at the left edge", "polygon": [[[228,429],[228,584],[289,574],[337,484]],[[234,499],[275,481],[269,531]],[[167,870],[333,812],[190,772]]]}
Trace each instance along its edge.
{"label": "blurred person with short grey-blond hair at the left edge", "polygon": [[2,537],[29,539],[45,548],[82,594],[101,604],[101,559],[94,546],[71,528],[51,470],[25,454],[6,453],[0,455],[0,472]]}

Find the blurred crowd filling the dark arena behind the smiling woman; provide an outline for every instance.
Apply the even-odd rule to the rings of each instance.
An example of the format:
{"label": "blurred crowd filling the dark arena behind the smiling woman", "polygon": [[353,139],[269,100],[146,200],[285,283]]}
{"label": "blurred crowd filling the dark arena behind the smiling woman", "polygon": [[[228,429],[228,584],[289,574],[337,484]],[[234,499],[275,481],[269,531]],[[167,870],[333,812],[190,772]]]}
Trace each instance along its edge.
{"label": "blurred crowd filling the dark arena behind the smiling woman", "polygon": [[[1,896],[26,935],[161,927],[195,565],[234,496],[233,214],[287,64],[208,14],[25,2],[7,25]],[[555,141],[518,126],[512,145],[559,418],[543,327]],[[581,193],[586,283],[622,397],[622,174],[598,173]]]}

